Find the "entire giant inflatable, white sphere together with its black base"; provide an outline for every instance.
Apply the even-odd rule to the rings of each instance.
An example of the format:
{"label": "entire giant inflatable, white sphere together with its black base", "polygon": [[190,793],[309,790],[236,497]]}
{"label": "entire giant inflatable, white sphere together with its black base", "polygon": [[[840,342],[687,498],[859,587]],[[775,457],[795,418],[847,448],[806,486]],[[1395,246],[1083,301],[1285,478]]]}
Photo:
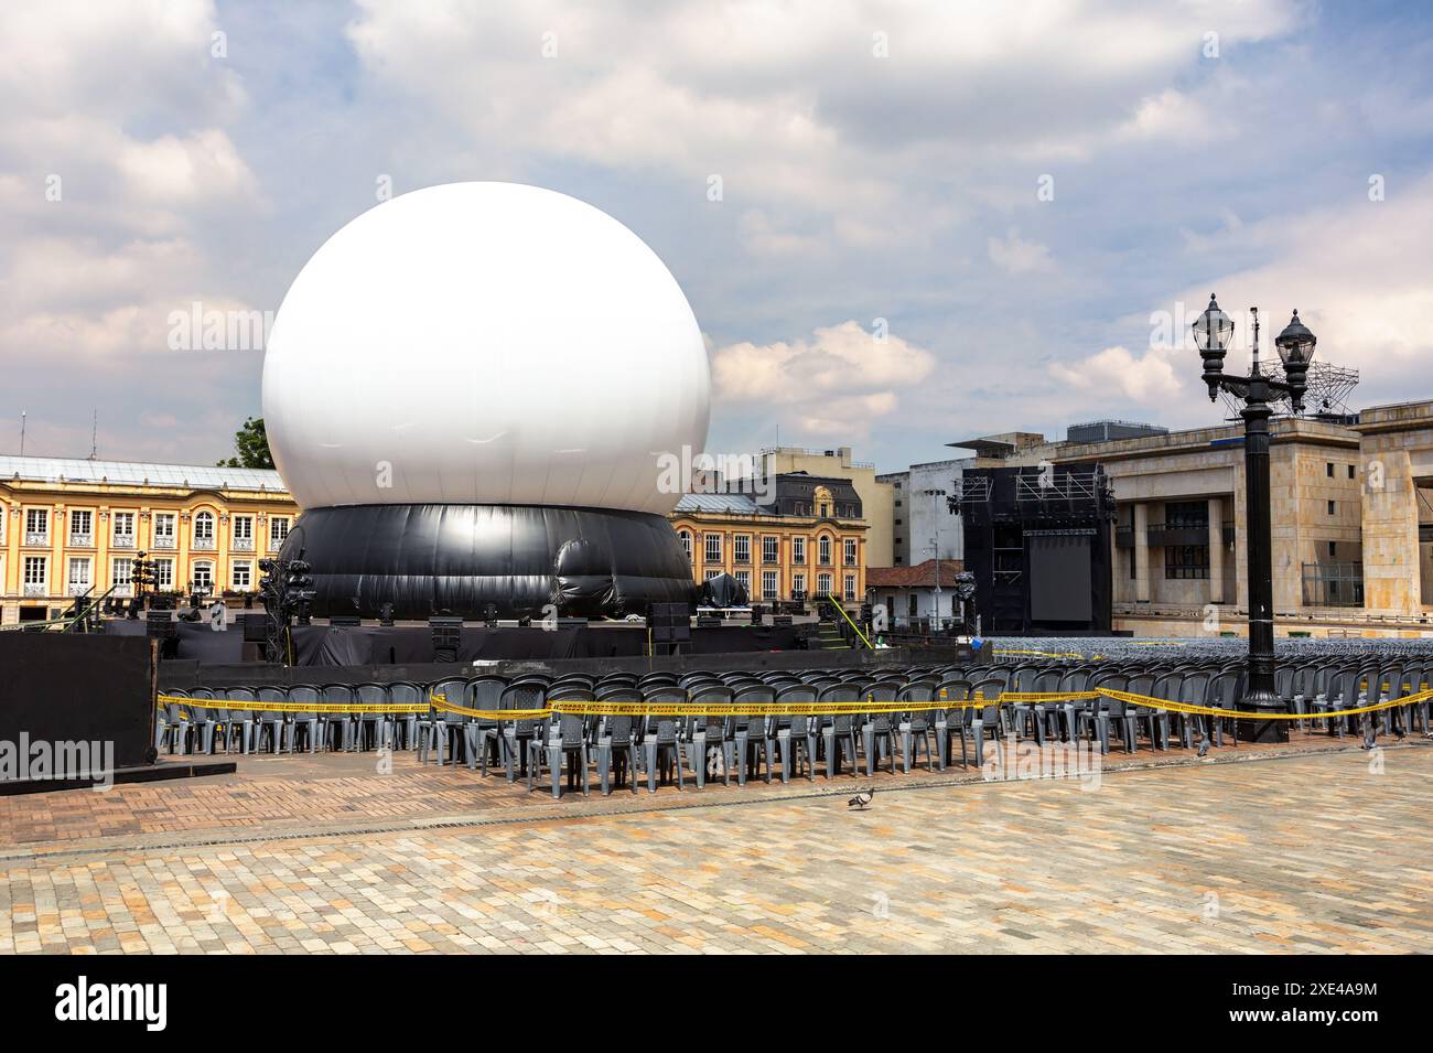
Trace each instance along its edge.
{"label": "entire giant inflatable, white sphere together with its black base", "polygon": [[573,198],[450,183],[358,216],[264,361],[284,549],[317,616],[552,617],[694,600],[666,520],[709,375],[662,261]]}

